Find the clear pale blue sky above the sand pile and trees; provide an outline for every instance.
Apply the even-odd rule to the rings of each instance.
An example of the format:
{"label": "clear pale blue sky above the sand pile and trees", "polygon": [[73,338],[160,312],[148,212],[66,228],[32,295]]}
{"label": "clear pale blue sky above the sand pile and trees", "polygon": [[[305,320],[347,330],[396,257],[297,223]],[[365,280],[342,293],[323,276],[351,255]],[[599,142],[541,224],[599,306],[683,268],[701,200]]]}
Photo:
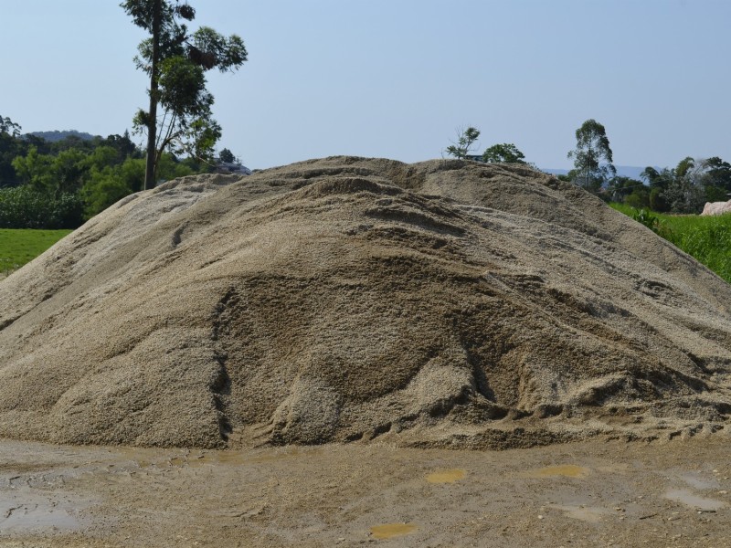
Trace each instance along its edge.
{"label": "clear pale blue sky above the sand pile and trees", "polygon": [[[569,167],[594,118],[618,165],[731,161],[729,0],[189,0],[249,62],[210,74],[252,168],[334,154],[417,162],[469,125]],[[0,0],[0,114],[24,132],[131,128],[143,32],[117,0]],[[137,138],[142,142],[142,138]]]}

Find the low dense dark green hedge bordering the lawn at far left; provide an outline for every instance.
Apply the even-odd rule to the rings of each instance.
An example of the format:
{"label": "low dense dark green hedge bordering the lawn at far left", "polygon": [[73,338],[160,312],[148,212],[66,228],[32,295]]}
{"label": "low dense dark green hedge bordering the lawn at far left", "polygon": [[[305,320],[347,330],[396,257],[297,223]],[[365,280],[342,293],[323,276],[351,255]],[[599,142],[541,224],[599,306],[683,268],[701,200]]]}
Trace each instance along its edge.
{"label": "low dense dark green hedge bordering the lawn at far left", "polygon": [[2,228],[76,228],[82,210],[78,194],[50,195],[30,185],[0,189]]}

